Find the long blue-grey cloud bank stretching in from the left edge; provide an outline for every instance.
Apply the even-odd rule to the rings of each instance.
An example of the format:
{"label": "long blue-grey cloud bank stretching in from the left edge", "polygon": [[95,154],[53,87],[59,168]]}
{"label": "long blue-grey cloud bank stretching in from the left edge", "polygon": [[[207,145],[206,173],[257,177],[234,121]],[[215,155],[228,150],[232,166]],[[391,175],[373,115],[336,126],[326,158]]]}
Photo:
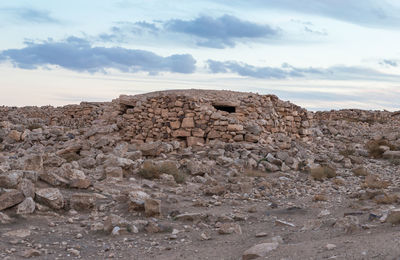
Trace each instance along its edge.
{"label": "long blue-grey cloud bank stretching in from the left edge", "polygon": [[193,73],[196,60],[189,54],[162,57],[155,53],[120,47],[94,47],[87,40],[69,37],[64,41],[29,42],[22,49],[0,52],[0,61],[11,61],[14,66],[36,69],[49,65],[79,72],[104,72],[112,68],[122,72],[145,71]]}

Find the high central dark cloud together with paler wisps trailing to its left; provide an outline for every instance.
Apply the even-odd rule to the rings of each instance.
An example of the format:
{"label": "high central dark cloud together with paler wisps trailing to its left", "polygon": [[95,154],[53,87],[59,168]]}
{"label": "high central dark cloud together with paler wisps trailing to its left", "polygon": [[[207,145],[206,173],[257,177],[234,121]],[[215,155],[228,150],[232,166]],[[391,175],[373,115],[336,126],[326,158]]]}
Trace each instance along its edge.
{"label": "high central dark cloud together with paler wisps trailing to its left", "polygon": [[200,16],[194,20],[120,22],[109,32],[100,34],[97,39],[102,42],[129,42],[137,36],[142,38],[156,36],[156,38],[151,38],[153,41],[174,39],[187,42],[189,40],[194,41],[197,46],[223,49],[235,47],[238,42],[249,39],[277,38],[279,30],[268,25],[240,20],[231,15],[218,18]]}

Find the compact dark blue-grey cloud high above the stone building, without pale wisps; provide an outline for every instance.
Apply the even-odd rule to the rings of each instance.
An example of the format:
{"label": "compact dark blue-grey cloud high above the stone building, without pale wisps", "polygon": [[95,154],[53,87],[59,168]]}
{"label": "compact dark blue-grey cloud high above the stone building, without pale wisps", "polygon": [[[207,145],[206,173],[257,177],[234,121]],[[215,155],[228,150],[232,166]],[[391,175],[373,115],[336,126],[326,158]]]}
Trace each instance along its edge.
{"label": "compact dark blue-grey cloud high above the stone building, without pale wisps", "polygon": [[173,19],[165,22],[164,27],[197,37],[197,45],[211,48],[234,47],[240,39],[276,37],[278,34],[268,25],[243,21],[231,15],[219,18],[201,16],[190,21]]}

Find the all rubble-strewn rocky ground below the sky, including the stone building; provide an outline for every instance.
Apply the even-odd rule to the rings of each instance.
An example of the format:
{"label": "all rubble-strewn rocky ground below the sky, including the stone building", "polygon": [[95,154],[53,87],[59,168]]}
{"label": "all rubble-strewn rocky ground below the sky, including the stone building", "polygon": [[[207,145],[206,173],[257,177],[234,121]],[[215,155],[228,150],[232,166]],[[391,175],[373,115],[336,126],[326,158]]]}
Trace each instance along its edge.
{"label": "all rubble-strewn rocky ground below the sky, including the stone building", "polygon": [[399,127],[232,91],[0,107],[0,258],[399,259]]}

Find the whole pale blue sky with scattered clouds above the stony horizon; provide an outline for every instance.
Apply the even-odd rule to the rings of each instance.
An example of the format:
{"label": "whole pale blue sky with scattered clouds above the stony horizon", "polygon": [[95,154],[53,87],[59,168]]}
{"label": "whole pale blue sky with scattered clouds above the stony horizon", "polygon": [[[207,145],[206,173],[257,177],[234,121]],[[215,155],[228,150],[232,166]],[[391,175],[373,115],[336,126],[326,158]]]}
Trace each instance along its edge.
{"label": "whole pale blue sky with scattered clouds above the stony horizon", "polygon": [[0,2],[0,105],[166,89],[400,110],[400,1]]}

